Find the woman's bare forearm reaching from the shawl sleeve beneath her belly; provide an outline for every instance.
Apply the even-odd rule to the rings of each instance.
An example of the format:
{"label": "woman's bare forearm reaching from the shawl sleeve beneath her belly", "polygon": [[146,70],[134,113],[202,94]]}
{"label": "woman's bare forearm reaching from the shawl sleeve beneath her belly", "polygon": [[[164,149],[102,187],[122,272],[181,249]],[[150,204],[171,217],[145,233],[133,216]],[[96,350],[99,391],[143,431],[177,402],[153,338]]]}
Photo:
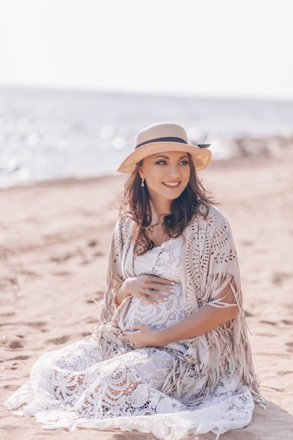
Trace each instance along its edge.
{"label": "woman's bare forearm reaching from the shawl sleeve beneath her belly", "polygon": [[180,341],[181,339],[200,336],[234,319],[236,315],[236,304],[228,307],[216,307],[206,304],[178,323],[162,330],[157,330],[157,343],[162,347],[171,342]]}

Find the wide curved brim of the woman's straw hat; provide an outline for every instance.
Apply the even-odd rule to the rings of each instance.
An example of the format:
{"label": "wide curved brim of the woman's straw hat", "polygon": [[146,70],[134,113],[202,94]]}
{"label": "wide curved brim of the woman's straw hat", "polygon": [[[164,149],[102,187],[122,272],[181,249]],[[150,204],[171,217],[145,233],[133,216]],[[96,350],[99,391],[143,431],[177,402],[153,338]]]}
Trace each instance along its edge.
{"label": "wide curved brim of the woman's straw hat", "polygon": [[120,173],[131,174],[136,169],[136,164],[145,159],[145,157],[167,151],[182,151],[183,153],[190,153],[197,171],[207,167],[211,160],[211,151],[207,148],[200,148],[197,145],[189,145],[188,143],[153,142],[142,145],[134,150],[124,159],[117,171]]}

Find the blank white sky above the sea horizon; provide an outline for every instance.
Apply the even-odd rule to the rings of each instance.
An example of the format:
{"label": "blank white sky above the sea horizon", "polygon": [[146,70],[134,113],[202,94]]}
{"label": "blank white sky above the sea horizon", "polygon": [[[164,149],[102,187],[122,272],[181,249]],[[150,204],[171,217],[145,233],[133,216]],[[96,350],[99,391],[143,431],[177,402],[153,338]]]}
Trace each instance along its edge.
{"label": "blank white sky above the sea horizon", "polygon": [[292,0],[0,0],[0,86],[293,100]]}

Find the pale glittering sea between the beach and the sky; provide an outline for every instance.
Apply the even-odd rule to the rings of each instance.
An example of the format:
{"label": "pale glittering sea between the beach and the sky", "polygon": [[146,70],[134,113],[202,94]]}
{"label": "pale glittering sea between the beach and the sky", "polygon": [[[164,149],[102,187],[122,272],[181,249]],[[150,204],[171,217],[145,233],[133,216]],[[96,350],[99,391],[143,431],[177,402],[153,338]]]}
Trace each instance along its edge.
{"label": "pale glittering sea between the beach and the sky", "polygon": [[293,101],[0,87],[0,188],[115,174],[155,122],[227,160],[233,138],[293,136]]}

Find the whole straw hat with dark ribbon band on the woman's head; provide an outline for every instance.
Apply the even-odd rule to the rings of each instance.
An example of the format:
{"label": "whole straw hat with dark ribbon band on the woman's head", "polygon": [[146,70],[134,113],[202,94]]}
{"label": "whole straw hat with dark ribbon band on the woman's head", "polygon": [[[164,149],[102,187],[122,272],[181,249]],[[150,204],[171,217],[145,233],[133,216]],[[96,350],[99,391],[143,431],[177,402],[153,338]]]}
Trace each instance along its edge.
{"label": "whole straw hat with dark ribbon band on the woman's head", "polygon": [[209,145],[190,145],[186,131],[181,125],[160,122],[138,132],[134,151],[124,159],[117,171],[130,174],[136,169],[136,164],[145,157],[165,151],[190,153],[198,171],[207,167],[211,160],[211,152],[207,150]]}

